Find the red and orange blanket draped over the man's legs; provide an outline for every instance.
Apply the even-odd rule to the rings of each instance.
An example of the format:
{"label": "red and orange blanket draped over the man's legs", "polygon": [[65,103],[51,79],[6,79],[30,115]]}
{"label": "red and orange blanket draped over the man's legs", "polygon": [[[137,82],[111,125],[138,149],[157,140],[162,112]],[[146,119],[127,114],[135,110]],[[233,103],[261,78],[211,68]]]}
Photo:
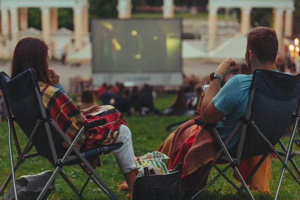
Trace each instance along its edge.
{"label": "red and orange blanket draped over the man's legs", "polygon": [[[196,185],[199,176],[205,171],[207,163],[214,159],[219,145],[207,126],[200,127],[194,124],[194,119],[189,120],[172,132],[161,144],[158,151],[168,155],[166,160],[168,169],[172,169],[178,162],[183,163],[181,176],[183,187],[191,189]],[[243,160],[237,167],[244,179],[247,178],[252,168],[261,156]],[[269,192],[271,176],[270,158],[264,160],[250,181],[250,189]],[[236,177],[233,175],[236,179]],[[206,177],[207,180],[207,177]],[[201,185],[202,187],[206,182]]]}

